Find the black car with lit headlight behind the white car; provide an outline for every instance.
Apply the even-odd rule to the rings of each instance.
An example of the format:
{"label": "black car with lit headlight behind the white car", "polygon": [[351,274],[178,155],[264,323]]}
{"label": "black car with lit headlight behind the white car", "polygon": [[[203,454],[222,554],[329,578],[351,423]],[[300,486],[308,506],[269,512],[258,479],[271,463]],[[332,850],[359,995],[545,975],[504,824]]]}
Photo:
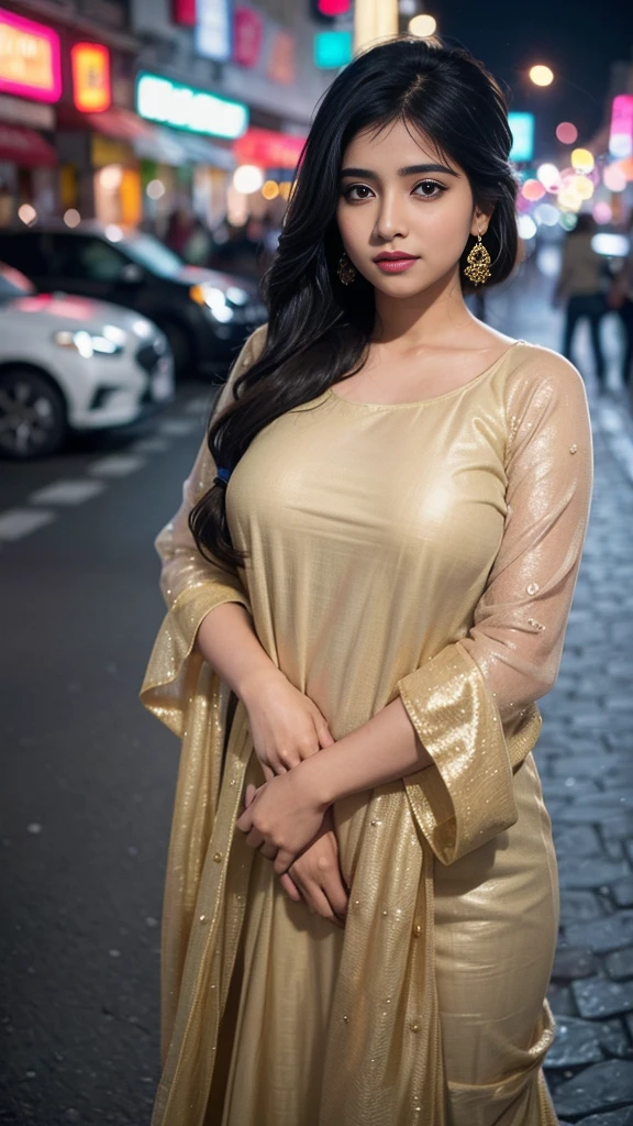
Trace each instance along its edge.
{"label": "black car with lit headlight behind the white car", "polygon": [[81,223],[0,232],[0,260],[39,292],[61,289],[133,309],[160,324],[178,375],[226,375],[246,338],[267,318],[253,282],[187,266],[151,234]]}

